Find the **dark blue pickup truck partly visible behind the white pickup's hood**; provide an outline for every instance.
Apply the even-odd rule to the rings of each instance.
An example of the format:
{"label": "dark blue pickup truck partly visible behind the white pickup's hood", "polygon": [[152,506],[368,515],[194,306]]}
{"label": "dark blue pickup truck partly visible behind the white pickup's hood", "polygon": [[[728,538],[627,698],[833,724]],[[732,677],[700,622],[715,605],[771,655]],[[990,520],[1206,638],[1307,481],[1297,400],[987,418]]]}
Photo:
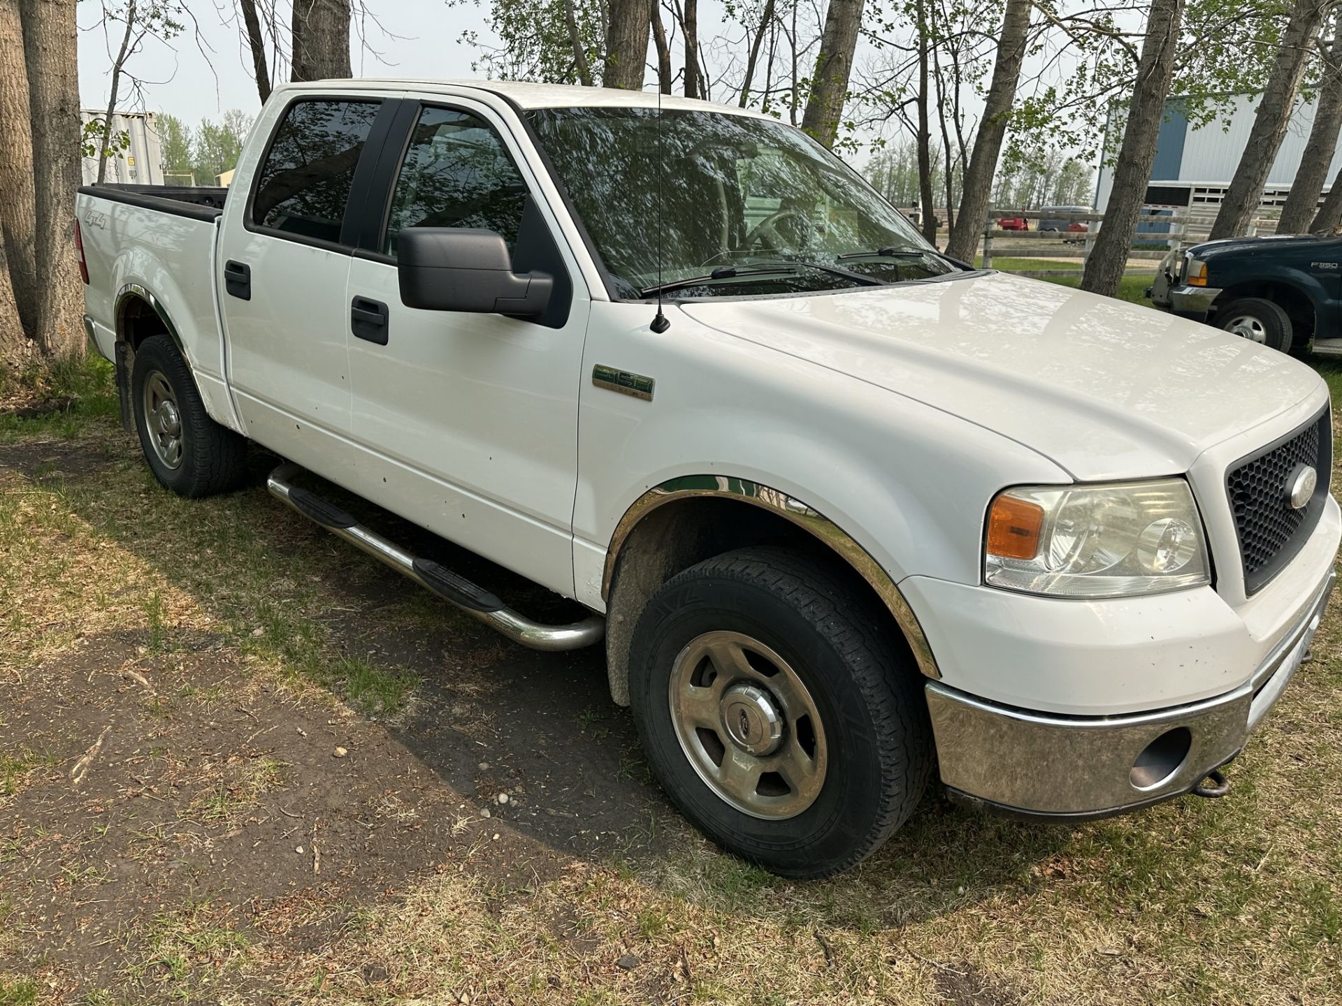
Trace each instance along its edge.
{"label": "dark blue pickup truck partly visible behind the white pickup's hood", "polygon": [[1147,296],[1283,353],[1342,354],[1342,237],[1194,244],[1165,256]]}

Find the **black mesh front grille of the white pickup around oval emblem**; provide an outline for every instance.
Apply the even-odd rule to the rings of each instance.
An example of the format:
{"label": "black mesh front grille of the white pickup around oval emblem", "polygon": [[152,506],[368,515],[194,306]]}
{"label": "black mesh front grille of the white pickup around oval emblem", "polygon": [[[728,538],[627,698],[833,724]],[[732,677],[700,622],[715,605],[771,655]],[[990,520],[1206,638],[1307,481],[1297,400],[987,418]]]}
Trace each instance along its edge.
{"label": "black mesh front grille of the white pickup around oval emblem", "polygon": [[[1312,465],[1318,483],[1310,502],[1295,510],[1290,486],[1300,465]],[[1225,491],[1240,541],[1247,594],[1271,581],[1304,545],[1323,511],[1331,471],[1333,425],[1327,409],[1283,440],[1231,465]]]}

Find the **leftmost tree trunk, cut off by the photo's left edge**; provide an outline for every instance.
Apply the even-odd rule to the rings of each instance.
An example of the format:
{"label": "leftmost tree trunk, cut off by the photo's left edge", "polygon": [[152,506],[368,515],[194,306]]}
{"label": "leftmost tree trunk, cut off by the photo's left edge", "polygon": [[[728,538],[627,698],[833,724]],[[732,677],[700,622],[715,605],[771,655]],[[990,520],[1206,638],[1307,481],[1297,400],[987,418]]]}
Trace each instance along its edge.
{"label": "leftmost tree trunk, cut off by the photo's left edge", "polygon": [[23,331],[38,333],[38,208],[32,190],[32,106],[19,0],[0,0],[0,240]]}

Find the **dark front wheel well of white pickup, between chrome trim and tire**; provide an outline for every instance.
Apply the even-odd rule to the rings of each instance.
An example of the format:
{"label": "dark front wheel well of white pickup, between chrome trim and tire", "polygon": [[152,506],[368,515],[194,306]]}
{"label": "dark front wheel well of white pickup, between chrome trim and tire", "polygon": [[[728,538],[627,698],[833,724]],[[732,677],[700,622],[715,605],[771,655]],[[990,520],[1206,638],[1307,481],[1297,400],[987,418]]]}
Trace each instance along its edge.
{"label": "dark front wheel well of white pickup, between chrome trim and tire", "polygon": [[871,585],[815,535],[778,514],[731,498],[687,496],[639,520],[624,539],[611,574],[605,653],[611,697],[617,704],[629,704],[629,645],[652,596],[690,566],[754,545],[793,549],[849,581],[872,598],[872,610],[886,621],[883,628],[907,647],[902,628]]}

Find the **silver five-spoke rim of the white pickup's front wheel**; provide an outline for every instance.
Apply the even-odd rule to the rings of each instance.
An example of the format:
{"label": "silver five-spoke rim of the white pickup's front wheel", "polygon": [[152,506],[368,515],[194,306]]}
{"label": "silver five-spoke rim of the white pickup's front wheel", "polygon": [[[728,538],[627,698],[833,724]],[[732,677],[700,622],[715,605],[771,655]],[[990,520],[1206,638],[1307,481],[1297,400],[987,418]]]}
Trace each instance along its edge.
{"label": "silver five-spoke rim of the white pickup's front wheel", "polygon": [[671,722],[718,797],[760,818],[796,817],[824,787],[824,724],[792,667],[738,632],[709,632],[671,668]]}

